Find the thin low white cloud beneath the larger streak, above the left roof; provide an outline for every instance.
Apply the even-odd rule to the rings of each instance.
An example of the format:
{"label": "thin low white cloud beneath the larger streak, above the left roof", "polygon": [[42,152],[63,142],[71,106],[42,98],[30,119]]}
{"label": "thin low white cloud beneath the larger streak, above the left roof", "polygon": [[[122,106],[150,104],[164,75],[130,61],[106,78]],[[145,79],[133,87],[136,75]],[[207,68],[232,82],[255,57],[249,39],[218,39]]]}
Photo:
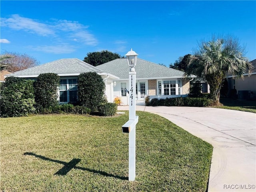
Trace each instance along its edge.
{"label": "thin low white cloud beneath the larger streak, above the left roof", "polygon": [[52,46],[30,46],[32,50],[42,51],[46,53],[54,54],[68,54],[74,52],[76,49],[73,46],[68,45],[52,45]]}

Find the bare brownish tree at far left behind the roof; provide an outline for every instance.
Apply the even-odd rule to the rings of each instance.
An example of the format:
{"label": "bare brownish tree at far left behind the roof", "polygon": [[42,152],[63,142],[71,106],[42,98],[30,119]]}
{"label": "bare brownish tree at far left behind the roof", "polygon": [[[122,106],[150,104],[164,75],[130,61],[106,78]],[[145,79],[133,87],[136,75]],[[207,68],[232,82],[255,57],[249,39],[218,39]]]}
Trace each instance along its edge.
{"label": "bare brownish tree at far left behind the roof", "polygon": [[30,57],[27,54],[5,52],[1,55],[1,70],[5,69],[10,72],[16,72],[30,67],[34,67],[38,64],[38,60]]}

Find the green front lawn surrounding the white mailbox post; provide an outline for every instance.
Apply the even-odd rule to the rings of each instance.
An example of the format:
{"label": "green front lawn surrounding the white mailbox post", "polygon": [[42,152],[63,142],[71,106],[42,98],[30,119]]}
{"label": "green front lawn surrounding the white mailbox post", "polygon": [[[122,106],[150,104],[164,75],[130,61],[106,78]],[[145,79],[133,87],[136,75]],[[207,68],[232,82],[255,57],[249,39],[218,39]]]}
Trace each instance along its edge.
{"label": "green front lawn surrounding the white mailbox post", "polygon": [[127,113],[1,118],[0,190],[205,192],[212,146],[147,112],[137,112],[136,179],[128,181]]}

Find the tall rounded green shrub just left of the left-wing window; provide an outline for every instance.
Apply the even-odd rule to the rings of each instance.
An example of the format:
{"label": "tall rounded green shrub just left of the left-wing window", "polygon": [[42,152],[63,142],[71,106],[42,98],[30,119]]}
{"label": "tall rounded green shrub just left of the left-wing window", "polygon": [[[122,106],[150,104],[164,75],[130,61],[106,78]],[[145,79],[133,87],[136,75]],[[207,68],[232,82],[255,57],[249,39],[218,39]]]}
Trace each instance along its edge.
{"label": "tall rounded green shrub just left of the left-wing window", "polygon": [[44,73],[34,83],[36,108],[45,110],[58,105],[58,86],[60,77],[55,73]]}

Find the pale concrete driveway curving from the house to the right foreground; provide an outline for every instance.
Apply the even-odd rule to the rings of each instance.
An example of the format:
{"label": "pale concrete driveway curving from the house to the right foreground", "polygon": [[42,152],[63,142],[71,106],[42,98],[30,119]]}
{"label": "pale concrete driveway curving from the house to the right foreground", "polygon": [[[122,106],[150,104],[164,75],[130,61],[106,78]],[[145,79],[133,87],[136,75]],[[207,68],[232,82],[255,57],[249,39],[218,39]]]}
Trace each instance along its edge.
{"label": "pale concrete driveway curving from the house to the right foreground", "polygon": [[255,113],[176,106],[136,106],[136,110],[158,114],[212,144],[208,192],[256,191]]}

